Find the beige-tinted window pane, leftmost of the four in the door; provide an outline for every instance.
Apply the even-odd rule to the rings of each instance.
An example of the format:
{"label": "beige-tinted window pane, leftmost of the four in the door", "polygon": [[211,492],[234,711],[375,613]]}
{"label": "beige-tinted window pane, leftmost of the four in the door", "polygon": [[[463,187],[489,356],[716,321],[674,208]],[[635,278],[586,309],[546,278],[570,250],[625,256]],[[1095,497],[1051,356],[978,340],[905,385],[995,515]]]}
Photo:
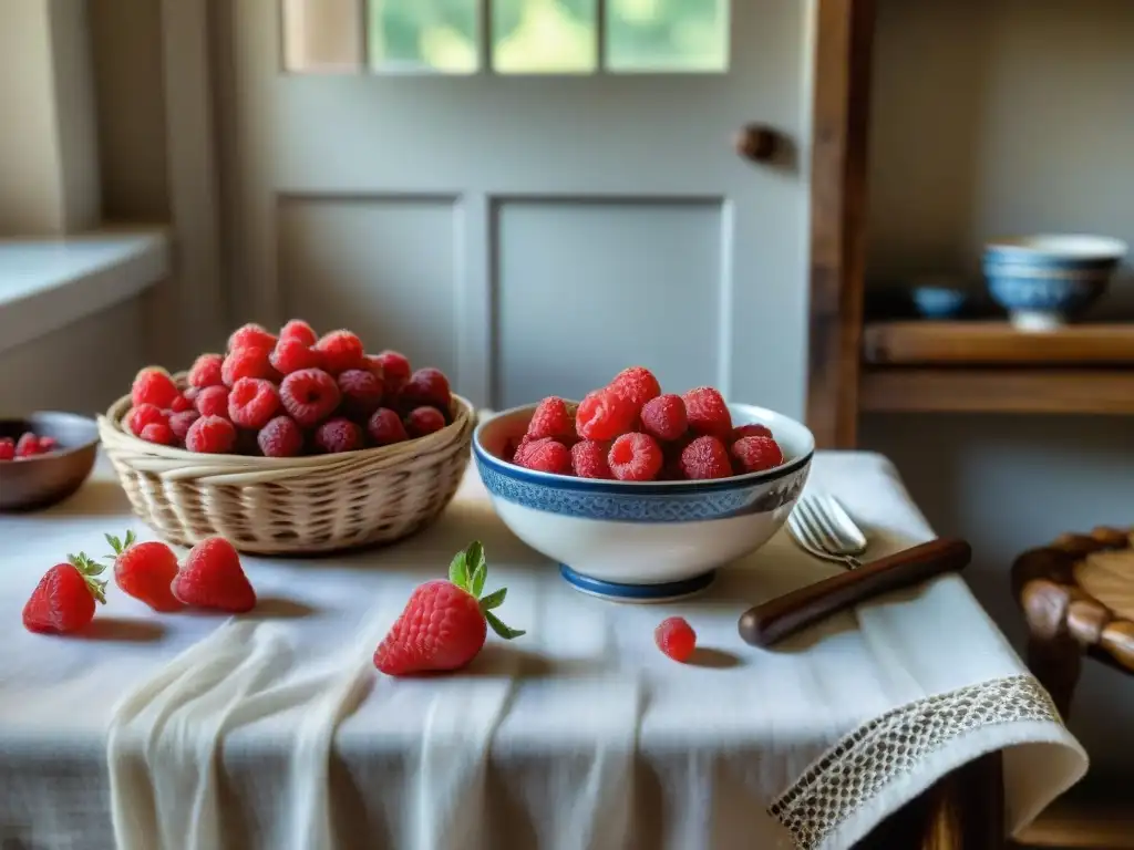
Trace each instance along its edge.
{"label": "beige-tinted window pane, leftmost of the four in the door", "polygon": [[362,67],[362,0],[284,0],[284,67],[355,71]]}

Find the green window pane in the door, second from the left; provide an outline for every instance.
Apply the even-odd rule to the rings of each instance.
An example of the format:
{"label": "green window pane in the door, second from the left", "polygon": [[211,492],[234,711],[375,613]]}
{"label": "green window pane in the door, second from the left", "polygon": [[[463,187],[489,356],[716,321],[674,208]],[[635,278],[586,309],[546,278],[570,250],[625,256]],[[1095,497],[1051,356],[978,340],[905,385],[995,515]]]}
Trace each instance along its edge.
{"label": "green window pane in the door, second from the left", "polygon": [[376,71],[473,74],[477,0],[370,0],[370,66]]}

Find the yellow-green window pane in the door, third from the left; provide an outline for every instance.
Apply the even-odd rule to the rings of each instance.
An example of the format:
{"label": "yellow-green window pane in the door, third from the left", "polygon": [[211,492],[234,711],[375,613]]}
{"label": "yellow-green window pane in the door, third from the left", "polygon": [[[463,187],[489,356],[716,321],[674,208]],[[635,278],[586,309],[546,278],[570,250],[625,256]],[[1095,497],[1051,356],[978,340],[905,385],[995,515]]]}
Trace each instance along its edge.
{"label": "yellow-green window pane in the door, third from the left", "polygon": [[586,74],[599,65],[595,0],[492,0],[492,68]]}

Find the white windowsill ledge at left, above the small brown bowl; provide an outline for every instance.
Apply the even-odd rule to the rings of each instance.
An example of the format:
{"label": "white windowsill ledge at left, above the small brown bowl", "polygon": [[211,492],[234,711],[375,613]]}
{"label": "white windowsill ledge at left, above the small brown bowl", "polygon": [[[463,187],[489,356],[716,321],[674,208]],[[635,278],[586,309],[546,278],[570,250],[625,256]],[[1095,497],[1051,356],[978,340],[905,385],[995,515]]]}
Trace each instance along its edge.
{"label": "white windowsill ledge at left, above the small brown bowl", "polygon": [[133,298],[167,278],[169,266],[162,228],[0,239],[0,350]]}

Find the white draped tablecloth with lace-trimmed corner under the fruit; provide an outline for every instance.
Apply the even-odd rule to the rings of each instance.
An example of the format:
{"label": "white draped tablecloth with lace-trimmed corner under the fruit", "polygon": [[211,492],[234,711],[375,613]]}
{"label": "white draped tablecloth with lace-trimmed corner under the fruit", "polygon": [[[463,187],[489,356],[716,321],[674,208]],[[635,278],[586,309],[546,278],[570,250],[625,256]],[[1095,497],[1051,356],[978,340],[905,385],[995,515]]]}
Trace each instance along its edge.
{"label": "white draped tablecloth with lace-trimmed corner under the fruit", "polygon": [[[870,556],[932,536],[890,464],[828,453],[809,486],[870,532]],[[845,848],[956,766],[1006,748],[1017,828],[1085,756],[956,577],[892,594],[773,651],[751,604],[830,575],[780,535],[705,595],[578,594],[496,520],[475,473],[397,546],[247,558],[252,614],[159,617],[111,588],[92,632],[26,632],[39,577],[133,527],[109,470],[68,502],[0,517],[0,843],[194,848]],[[392,680],[373,648],[412,588],[484,542],[500,610],[466,672]],[[686,617],[709,652],[653,646]]]}

